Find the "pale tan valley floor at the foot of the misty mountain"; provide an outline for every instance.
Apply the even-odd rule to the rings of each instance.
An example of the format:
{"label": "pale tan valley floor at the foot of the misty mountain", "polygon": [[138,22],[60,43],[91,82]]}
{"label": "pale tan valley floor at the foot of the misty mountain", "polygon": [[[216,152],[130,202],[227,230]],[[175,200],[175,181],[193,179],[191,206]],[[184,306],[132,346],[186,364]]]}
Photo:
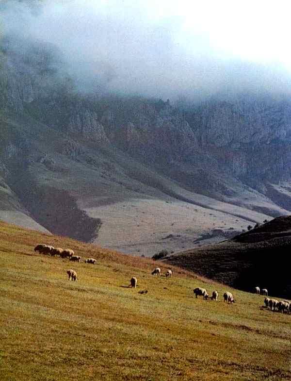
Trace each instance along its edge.
{"label": "pale tan valley floor at the foot of the misty mountain", "polygon": [[[250,223],[255,224],[252,220],[269,218],[246,208],[211,200],[213,205],[209,208],[170,198],[167,201],[129,199],[99,207],[86,208],[82,205],[82,208],[90,217],[102,221],[95,243],[146,257],[152,257],[163,249],[170,253],[223,241],[231,232],[239,234],[246,231]],[[212,235],[215,230],[222,234],[213,234],[212,241],[203,242],[202,239],[195,242],[207,232]]]}

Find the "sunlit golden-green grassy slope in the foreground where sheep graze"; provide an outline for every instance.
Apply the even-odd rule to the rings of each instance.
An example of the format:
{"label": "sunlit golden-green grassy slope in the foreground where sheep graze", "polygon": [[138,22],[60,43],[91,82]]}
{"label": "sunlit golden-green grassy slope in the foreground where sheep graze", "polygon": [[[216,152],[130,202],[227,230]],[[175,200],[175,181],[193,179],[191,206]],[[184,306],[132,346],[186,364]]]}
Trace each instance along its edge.
{"label": "sunlit golden-green grassy slope in the foreground where sheep graze", "polygon": [[[97,265],[34,253],[37,243]],[[291,379],[291,315],[175,267],[154,277],[157,265],[164,274],[159,262],[0,223],[0,380]],[[217,289],[218,302],[194,298],[197,286]]]}

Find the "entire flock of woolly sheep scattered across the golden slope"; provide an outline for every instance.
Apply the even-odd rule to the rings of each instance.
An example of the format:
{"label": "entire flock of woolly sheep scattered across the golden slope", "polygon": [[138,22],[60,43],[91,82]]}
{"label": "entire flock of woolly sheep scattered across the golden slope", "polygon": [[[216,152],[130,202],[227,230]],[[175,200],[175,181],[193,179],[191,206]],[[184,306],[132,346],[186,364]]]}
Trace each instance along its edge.
{"label": "entire flock of woolly sheep scattered across the golden slope", "polygon": [[[62,259],[67,258],[71,262],[77,262],[77,263],[84,262],[86,264],[96,265],[96,259],[95,258],[87,258],[84,261],[82,261],[81,256],[75,255],[74,250],[69,249],[69,248],[66,248],[66,249],[54,248],[51,245],[38,244],[34,248],[34,251],[38,251],[40,254],[49,255],[52,257],[59,256]],[[74,281],[74,282],[78,281],[77,272],[75,270],[69,269],[66,271],[66,274],[68,276],[69,281]],[[162,276],[162,270],[160,267],[156,267],[153,269],[151,274],[160,277],[160,276]],[[172,276],[173,276],[173,270],[167,269],[167,271],[164,274],[164,277],[167,279],[170,279],[170,278],[172,278]],[[135,289],[137,287],[137,284],[138,284],[138,280],[136,277],[133,276],[130,279],[128,287]],[[148,292],[147,290],[146,291],[139,291],[139,294],[147,294],[147,292]],[[210,294],[211,297],[209,297],[207,290],[205,288],[202,288],[202,287],[196,287],[193,290],[193,292],[194,292],[195,298],[198,298],[198,296],[201,296],[201,297],[203,297],[204,300],[208,300],[210,298],[211,300],[214,300],[216,302],[218,301],[217,290],[212,291],[212,293]],[[277,299],[269,298],[268,297],[268,290],[266,288],[260,289],[259,286],[254,287],[253,292],[256,295],[265,296],[264,305],[261,307],[261,309],[267,309],[267,310],[270,310],[273,312],[277,311],[277,312],[280,312],[282,314],[283,313],[291,314],[291,301],[289,301],[289,300],[278,301]],[[223,294],[223,300],[227,304],[235,303],[235,299],[233,298],[232,293],[229,291],[226,291]]]}

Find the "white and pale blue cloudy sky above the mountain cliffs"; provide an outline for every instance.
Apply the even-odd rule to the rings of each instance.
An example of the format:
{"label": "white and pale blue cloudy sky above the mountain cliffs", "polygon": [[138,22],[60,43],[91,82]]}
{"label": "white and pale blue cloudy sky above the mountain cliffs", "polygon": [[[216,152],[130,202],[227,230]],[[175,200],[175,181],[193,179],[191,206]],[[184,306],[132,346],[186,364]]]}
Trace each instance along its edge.
{"label": "white and pale blue cloudy sky above the mountain cliffs", "polygon": [[164,99],[291,89],[291,1],[6,3],[4,34],[57,45],[82,89]]}

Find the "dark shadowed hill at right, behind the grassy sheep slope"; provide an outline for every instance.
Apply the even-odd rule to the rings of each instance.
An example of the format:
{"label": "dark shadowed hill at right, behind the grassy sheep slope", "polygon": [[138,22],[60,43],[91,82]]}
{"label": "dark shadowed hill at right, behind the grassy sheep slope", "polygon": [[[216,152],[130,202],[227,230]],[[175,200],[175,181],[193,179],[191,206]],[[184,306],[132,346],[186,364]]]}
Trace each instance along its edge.
{"label": "dark shadowed hill at right, behind the grassy sheep slope", "polygon": [[269,295],[290,298],[290,247],[291,216],[281,216],[230,240],[164,261],[245,291],[259,286]]}

